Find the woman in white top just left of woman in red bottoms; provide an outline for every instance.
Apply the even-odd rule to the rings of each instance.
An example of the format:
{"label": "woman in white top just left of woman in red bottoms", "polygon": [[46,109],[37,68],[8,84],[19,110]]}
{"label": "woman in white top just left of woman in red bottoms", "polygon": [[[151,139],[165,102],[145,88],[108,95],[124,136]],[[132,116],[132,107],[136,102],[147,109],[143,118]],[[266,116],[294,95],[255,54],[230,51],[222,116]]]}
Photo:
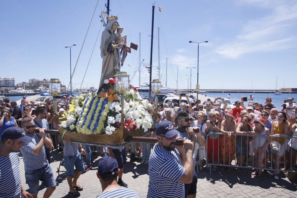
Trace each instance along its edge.
{"label": "woman in white top just left of woman in red bottoms", "polygon": [[[202,108],[203,108],[203,105],[202,105]],[[195,117],[198,120],[194,120],[192,122],[191,127],[195,127],[195,126],[199,127],[200,131],[201,131],[200,134],[202,135],[202,137],[204,137],[205,128],[206,128],[204,119],[205,119],[206,115],[203,111],[198,111],[197,113],[195,113]],[[199,153],[197,151],[199,151]],[[196,143],[196,153],[199,158],[199,170],[203,171],[202,162],[203,162],[203,159],[206,158],[205,146],[200,146],[198,143]]]}

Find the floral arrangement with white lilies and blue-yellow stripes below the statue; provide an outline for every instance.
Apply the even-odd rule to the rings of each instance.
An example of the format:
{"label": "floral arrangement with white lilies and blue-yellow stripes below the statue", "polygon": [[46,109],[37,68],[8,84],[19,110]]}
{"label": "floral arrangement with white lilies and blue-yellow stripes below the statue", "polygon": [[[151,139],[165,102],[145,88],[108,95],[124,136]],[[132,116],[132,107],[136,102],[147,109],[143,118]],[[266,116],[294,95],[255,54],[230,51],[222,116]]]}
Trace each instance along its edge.
{"label": "floral arrangement with white lilies and blue-yellow stripes below the statue", "polygon": [[[74,113],[69,113],[66,121],[61,123],[63,128],[69,128],[83,134],[112,134],[121,127],[122,107],[120,96],[114,92],[115,79],[104,80],[107,92],[101,92],[97,96],[89,96],[81,105],[76,105]],[[141,100],[137,89],[130,85],[130,90],[124,94],[124,127],[128,131],[143,129],[148,131],[153,126],[152,117],[148,108],[152,105],[148,100]],[[72,102],[73,103],[73,102]],[[80,107],[80,111],[75,111]]]}

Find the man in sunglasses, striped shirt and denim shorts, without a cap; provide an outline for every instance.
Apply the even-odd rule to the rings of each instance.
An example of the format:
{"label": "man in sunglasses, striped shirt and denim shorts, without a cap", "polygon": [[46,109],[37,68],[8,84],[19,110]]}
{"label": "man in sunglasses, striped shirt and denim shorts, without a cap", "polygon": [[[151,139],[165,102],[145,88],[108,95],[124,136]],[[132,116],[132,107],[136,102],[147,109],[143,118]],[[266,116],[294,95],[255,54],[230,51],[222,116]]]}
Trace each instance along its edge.
{"label": "man in sunglasses, striped shirt and denim shorts, without a cap", "polygon": [[37,197],[40,180],[47,188],[43,197],[50,197],[56,189],[56,180],[46,159],[45,147],[51,148],[52,142],[46,137],[44,129],[39,129],[39,132],[36,133],[36,125],[32,118],[24,118],[22,125],[26,135],[32,138],[30,142],[25,142],[25,146],[20,148],[24,157],[25,177],[30,188],[30,194],[34,198]]}

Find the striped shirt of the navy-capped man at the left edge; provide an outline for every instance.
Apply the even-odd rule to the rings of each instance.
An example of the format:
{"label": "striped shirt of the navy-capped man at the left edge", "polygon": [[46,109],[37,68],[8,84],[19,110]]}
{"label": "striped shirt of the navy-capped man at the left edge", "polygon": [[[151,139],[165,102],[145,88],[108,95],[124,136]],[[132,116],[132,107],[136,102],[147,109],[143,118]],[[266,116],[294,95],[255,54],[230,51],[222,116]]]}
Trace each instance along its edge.
{"label": "striped shirt of the navy-capped man at the left edge", "polygon": [[20,160],[17,153],[0,155],[0,197],[23,197],[21,193]]}

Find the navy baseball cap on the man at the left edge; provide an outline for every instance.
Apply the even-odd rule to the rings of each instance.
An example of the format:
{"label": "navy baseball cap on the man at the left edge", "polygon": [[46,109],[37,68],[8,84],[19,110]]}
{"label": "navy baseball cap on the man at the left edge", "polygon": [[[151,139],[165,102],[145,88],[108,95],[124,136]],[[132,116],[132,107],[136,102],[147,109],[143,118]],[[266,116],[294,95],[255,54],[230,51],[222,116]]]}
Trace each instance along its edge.
{"label": "navy baseball cap on the man at the left edge", "polygon": [[4,130],[4,132],[1,135],[1,140],[8,140],[8,139],[10,140],[18,139],[23,142],[30,142],[32,140],[31,137],[26,136],[26,133],[22,128],[17,126],[9,127]]}

